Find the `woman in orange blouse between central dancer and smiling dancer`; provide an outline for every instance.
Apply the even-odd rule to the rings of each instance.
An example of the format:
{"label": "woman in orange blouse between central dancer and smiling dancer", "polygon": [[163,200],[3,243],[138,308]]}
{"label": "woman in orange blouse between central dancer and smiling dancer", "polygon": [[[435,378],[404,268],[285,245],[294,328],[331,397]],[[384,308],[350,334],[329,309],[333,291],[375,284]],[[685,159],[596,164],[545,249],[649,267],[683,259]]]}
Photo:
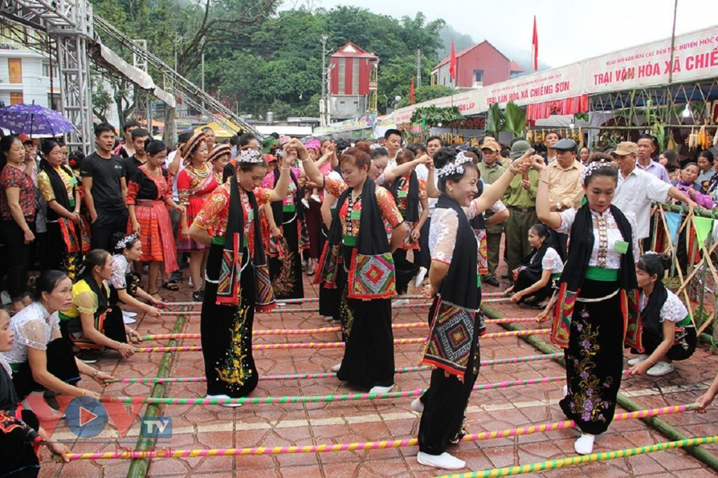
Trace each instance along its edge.
{"label": "woman in orange blouse between central dancer and smiling dancer", "polygon": [[[416,159],[414,153],[409,149],[402,149],[396,154],[396,164],[404,164],[414,159]],[[389,191],[409,230],[404,238],[404,244],[393,253],[396,294],[401,296],[406,294],[409,281],[419,272],[419,265],[410,262],[406,258],[406,253],[409,250],[419,251],[421,227],[429,217],[429,199],[426,197],[426,182],[416,176],[414,169],[393,179]],[[421,205],[421,214],[419,214],[419,205]]]}

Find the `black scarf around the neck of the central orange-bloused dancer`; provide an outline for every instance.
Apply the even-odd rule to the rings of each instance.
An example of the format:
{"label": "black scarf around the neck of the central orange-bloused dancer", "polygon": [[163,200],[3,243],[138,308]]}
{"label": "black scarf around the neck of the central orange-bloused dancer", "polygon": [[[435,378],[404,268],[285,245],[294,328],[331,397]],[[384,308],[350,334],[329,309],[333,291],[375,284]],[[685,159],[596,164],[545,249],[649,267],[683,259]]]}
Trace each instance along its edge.
{"label": "black scarf around the neck of the central orange-bloused dancer", "polygon": [[[342,205],[352,193],[348,187],[342,192],[337,202],[337,212],[342,210]],[[332,225],[327,238],[332,245],[342,242],[342,222],[337,214],[332,219]],[[378,256],[388,253],[391,246],[386,238],[384,222],[381,219],[381,211],[376,202],[376,184],[373,179],[367,178],[361,192],[361,217],[359,220],[359,235],[357,238],[357,249],[363,256]]]}

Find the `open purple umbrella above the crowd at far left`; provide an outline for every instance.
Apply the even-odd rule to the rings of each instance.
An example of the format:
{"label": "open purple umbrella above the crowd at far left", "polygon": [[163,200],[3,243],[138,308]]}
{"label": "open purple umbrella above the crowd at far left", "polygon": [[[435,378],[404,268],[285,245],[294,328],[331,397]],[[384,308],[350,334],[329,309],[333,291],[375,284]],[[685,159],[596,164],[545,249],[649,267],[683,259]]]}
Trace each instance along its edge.
{"label": "open purple umbrella above the crowd at far left", "polygon": [[0,128],[12,133],[25,133],[29,136],[60,136],[75,128],[57,111],[36,104],[17,105],[0,108]]}

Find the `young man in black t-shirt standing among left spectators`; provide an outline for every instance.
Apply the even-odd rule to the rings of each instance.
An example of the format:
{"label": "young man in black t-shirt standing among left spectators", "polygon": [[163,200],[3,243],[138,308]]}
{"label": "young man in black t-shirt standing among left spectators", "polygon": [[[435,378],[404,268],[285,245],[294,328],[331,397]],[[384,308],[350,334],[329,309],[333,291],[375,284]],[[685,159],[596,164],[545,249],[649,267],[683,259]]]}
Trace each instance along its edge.
{"label": "young man in black t-shirt standing among left spectators", "polygon": [[98,124],[95,141],[97,151],[85,158],[80,174],[92,221],[92,248],[113,252],[110,238],[127,229],[126,173],[122,160],[112,154],[115,128],[108,123]]}

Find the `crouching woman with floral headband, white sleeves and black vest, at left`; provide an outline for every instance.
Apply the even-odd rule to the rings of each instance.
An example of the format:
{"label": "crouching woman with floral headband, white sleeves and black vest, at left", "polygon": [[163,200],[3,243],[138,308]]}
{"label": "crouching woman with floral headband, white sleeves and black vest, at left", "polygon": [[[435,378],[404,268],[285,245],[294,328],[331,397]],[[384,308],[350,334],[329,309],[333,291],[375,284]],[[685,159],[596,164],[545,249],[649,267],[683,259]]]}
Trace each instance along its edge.
{"label": "crouching woman with floral headband, white sleeves and black vest, at left", "polygon": [[[127,304],[144,311],[149,317],[159,317],[162,301],[148,294],[139,286],[139,273],[132,271],[132,263],[140,262],[144,243],[137,233],[124,235],[114,233],[110,239],[114,248],[112,256],[112,278],[110,279],[110,305],[117,306],[118,302]],[[146,303],[138,300],[142,299]]]}

